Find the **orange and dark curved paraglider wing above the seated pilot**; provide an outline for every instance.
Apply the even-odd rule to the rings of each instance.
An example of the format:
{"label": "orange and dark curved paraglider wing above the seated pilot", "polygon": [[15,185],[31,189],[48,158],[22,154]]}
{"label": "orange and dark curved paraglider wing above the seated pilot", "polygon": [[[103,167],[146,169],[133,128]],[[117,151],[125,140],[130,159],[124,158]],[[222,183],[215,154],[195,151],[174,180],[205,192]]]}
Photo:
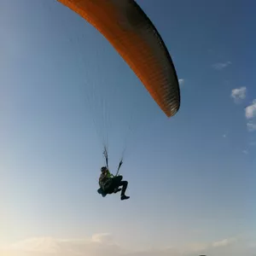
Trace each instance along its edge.
{"label": "orange and dark curved paraglider wing above the seated pilot", "polygon": [[153,23],[133,0],[57,0],[102,33],[167,117],[180,107],[172,58]]}

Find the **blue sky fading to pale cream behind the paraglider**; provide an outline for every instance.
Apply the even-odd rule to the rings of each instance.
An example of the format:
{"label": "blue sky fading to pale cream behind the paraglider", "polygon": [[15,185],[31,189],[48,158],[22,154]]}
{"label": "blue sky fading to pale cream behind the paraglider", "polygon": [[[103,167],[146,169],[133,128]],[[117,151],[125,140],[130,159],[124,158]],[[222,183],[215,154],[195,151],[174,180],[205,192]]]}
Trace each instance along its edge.
{"label": "blue sky fading to pale cream behind the paraglider", "polygon": [[[79,15],[55,1],[0,1],[0,247],[7,255],[30,255],[35,244],[48,255],[67,247],[61,239],[73,249],[84,239],[89,255],[107,247],[115,255],[113,243],[134,256],[152,247],[158,255],[255,255],[256,4],[137,3],[177,69],[181,108],[172,119]],[[129,201],[96,193],[104,162],[91,117],[104,131],[102,96],[113,168],[129,135],[121,169]]]}

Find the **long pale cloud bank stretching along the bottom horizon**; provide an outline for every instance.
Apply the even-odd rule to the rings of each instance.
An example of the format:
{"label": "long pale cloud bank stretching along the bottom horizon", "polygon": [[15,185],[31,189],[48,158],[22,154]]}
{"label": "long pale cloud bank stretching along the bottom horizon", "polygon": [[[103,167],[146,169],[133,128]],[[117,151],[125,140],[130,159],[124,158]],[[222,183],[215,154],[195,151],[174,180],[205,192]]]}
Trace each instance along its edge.
{"label": "long pale cloud bank stretching along the bottom horizon", "polygon": [[[108,238],[107,238],[108,237]],[[109,240],[110,239],[110,240]],[[109,242],[110,241],[110,242]],[[227,238],[212,243],[193,243],[183,247],[148,248],[143,251],[126,249],[113,242],[111,234],[96,234],[85,239],[55,239],[51,237],[32,238],[9,247],[0,248],[2,256],[192,256],[211,254],[212,256],[238,256],[236,238]],[[244,247],[246,253],[248,247]]]}

